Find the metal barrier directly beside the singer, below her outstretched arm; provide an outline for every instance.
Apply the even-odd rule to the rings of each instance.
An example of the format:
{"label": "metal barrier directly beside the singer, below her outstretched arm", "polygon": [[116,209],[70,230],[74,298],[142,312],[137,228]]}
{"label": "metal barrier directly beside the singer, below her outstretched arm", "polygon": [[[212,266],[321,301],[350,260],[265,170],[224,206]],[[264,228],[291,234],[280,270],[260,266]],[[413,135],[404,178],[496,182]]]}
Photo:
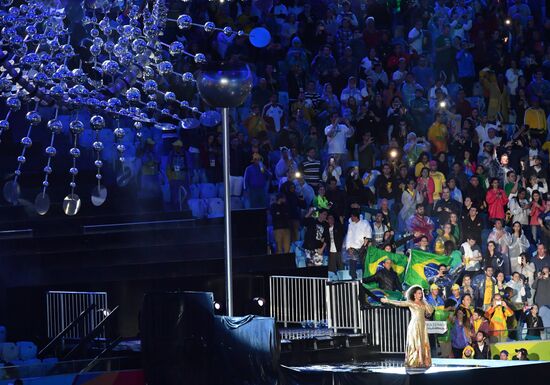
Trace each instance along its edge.
{"label": "metal barrier directly beside the singer, below her outstretched arm", "polygon": [[381,353],[404,353],[410,319],[407,308],[375,307],[363,311],[363,330]]}

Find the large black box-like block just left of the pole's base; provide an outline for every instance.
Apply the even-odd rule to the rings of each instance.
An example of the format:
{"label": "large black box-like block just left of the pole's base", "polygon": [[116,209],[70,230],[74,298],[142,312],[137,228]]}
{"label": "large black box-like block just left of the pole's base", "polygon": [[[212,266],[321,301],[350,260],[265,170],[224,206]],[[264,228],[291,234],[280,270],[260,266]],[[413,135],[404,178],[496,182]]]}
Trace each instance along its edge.
{"label": "large black box-like block just left of the pole's base", "polygon": [[147,293],[141,349],[148,385],[210,385],[212,293]]}

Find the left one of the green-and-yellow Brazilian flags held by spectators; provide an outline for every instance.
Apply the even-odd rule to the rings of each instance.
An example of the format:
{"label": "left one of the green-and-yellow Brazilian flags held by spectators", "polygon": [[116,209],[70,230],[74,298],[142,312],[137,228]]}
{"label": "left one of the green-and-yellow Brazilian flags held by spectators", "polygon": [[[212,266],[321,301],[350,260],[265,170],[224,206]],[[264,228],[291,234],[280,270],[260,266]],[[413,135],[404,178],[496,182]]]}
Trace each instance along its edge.
{"label": "left one of the green-and-yellow Brazilian flags held by spectators", "polygon": [[[363,269],[363,278],[368,278],[380,269],[383,269],[384,261],[389,258],[392,261],[392,268],[397,273],[399,282],[403,282],[405,276],[405,269],[407,267],[407,256],[403,254],[390,253],[384,250],[377,249],[376,247],[369,246],[367,250],[367,256],[365,257],[365,268]],[[400,291],[381,290],[378,288],[378,284],[371,282],[363,284],[366,289],[369,289],[371,293],[377,297],[388,297],[393,300],[400,300],[403,295]],[[376,305],[371,301],[371,298],[367,298],[371,304]]]}

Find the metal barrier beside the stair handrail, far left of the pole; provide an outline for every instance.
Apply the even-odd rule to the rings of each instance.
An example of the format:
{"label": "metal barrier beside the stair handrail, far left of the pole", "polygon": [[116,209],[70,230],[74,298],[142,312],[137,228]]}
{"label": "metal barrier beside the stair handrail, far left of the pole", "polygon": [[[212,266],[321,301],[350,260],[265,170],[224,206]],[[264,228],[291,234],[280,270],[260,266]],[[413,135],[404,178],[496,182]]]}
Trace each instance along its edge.
{"label": "metal barrier beside the stair handrail, far left of the pole", "polygon": [[[48,337],[54,338],[63,331],[80,313],[95,304],[97,311],[90,314],[82,328],[73,328],[66,338],[81,339],[90,333],[108,312],[107,293],[79,291],[49,291],[46,295]],[[103,330],[98,338],[105,338]]]}

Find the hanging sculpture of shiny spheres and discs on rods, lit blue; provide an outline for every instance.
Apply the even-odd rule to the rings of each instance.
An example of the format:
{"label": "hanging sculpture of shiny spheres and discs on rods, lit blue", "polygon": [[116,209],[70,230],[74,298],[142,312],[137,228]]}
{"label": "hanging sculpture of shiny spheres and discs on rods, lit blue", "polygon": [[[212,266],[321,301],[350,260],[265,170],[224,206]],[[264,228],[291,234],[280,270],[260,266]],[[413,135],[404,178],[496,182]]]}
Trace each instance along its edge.
{"label": "hanging sculpture of shiny spheres and discs on rods, lit blue", "polygon": [[[137,138],[142,138],[143,130],[153,126],[192,129],[201,123],[214,126],[220,122],[221,116],[216,110],[201,112],[188,100],[178,100],[169,89],[170,85],[164,81],[167,77],[177,78],[184,84],[197,81],[193,73],[178,73],[174,69],[173,61],[178,57],[188,56],[194,63],[210,68],[204,71],[206,76],[201,75],[205,83],[202,87],[199,84],[199,90],[213,107],[225,106],[223,102],[209,101],[216,99],[217,89],[221,89],[222,94],[225,92],[222,97],[226,98],[242,93],[245,88],[250,91],[250,76],[244,83],[242,76],[241,82],[219,76],[213,78],[211,75],[220,71],[212,70],[205,54],[188,52],[179,40],[163,41],[168,23],[175,23],[184,31],[202,28],[227,37],[248,36],[250,42],[260,48],[270,40],[269,32],[261,27],[245,34],[231,27],[218,28],[211,21],[194,23],[186,14],[171,19],[164,0],[69,0],[63,3],[66,8],[60,0],[27,0],[18,6],[13,5],[13,0],[0,0],[0,96],[7,107],[6,115],[0,117],[0,140],[2,133],[10,129],[10,115],[28,110],[25,115],[28,129],[20,140],[17,166],[13,178],[4,185],[3,194],[9,203],[17,204],[21,194],[19,179],[33,143],[33,133],[49,130],[50,141],[44,148],[44,178],[34,201],[40,215],[50,208],[49,177],[59,151],[56,137],[64,128],[59,115],[70,116],[68,151],[72,157],[63,210],[67,215],[75,215],[81,206],[77,195],[79,138],[85,128],[91,128],[94,136],[92,150],[97,184],[91,201],[99,206],[107,197],[107,189],[102,184],[105,143],[100,139],[100,132],[108,121],[114,122],[116,161],[122,164],[126,151],[122,139],[127,135],[127,128],[120,126],[121,119],[132,122]],[[229,106],[232,104],[227,104]],[[50,114],[53,111],[53,118],[46,122],[42,111]],[[82,121],[88,114],[89,122]]]}

